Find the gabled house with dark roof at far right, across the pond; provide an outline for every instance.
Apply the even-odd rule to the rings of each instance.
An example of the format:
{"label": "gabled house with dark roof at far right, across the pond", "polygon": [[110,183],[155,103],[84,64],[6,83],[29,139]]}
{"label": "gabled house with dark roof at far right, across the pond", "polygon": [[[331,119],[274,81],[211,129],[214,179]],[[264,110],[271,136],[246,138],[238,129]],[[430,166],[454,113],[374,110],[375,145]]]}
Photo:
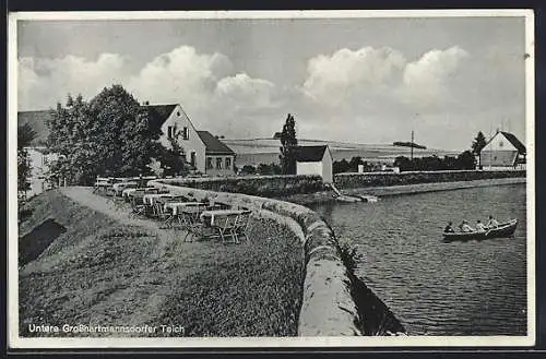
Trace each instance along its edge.
{"label": "gabled house with dark roof at far right, across the pond", "polygon": [[498,131],[482,148],[479,163],[484,169],[523,169],[525,145],[512,133]]}

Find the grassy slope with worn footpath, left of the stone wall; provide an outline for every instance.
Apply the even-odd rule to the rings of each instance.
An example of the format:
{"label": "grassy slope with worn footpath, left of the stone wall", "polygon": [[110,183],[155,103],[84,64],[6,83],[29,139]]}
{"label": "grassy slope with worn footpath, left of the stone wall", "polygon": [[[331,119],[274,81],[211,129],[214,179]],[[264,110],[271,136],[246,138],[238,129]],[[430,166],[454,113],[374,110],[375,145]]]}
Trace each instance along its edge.
{"label": "grassy slope with worn footpath, left of the stone wall", "polygon": [[21,235],[47,218],[67,231],[20,268],[23,336],[33,335],[29,323],[176,324],[190,336],[296,335],[301,249],[275,223],[257,222],[251,243],[183,243],[176,232],[117,223],[57,191],[31,205]]}

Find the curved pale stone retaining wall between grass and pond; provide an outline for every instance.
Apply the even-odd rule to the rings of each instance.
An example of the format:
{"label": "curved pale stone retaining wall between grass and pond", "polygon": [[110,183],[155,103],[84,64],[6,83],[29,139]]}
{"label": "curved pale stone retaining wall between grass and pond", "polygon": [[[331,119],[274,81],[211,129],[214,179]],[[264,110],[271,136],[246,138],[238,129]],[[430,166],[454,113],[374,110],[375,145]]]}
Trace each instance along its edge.
{"label": "curved pale stone retaining wall between grass and pond", "polygon": [[[352,296],[351,278],[334,232],[313,211],[288,202],[238,193],[212,192],[173,186],[176,180],[154,180],[150,186],[195,200],[209,199],[248,207],[259,215],[281,216],[302,241],[306,277],[299,313],[299,336],[363,335],[361,314]],[[289,219],[288,219],[289,218]]]}

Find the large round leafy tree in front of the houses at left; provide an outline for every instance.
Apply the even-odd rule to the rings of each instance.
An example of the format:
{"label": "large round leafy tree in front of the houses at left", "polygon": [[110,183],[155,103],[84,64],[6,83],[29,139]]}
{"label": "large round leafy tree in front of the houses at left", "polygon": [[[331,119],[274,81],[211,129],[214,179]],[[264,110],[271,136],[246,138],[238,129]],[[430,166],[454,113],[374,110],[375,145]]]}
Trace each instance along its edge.
{"label": "large round leafy tree in front of the houses at left", "polygon": [[121,85],[105,87],[90,103],[69,95],[64,107],[57,104],[48,127],[48,145],[61,157],[51,169],[72,183],[147,173],[159,153],[161,129]]}

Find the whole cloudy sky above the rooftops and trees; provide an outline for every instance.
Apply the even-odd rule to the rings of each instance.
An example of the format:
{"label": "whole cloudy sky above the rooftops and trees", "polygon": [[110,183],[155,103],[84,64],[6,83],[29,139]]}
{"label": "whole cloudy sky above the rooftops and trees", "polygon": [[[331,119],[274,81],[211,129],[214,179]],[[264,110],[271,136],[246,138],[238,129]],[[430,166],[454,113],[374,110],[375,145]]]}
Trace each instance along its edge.
{"label": "whole cloudy sky above the rooftops and trees", "polygon": [[19,110],[121,84],[180,104],[228,139],[466,149],[478,131],[525,141],[523,17],[17,22]]}

